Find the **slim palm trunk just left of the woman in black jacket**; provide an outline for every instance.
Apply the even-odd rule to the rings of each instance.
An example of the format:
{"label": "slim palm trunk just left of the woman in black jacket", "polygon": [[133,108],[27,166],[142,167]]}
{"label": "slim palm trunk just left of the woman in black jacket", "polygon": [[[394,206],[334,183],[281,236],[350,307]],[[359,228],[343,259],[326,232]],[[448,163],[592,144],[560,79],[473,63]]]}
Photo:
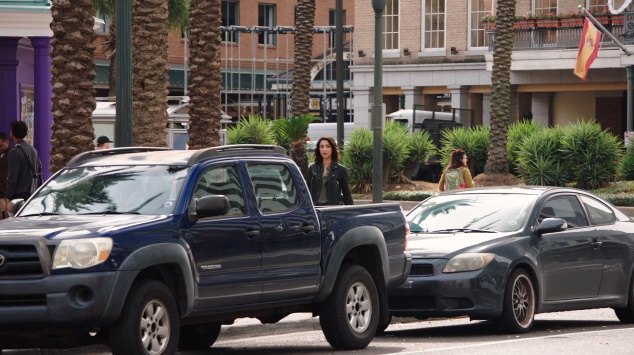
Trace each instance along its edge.
{"label": "slim palm trunk just left of the woman in black jacket", "polygon": [[310,101],[310,69],[313,53],[313,26],[315,24],[315,0],[298,0],[295,16],[295,63],[291,88],[291,112],[293,116],[308,114]]}

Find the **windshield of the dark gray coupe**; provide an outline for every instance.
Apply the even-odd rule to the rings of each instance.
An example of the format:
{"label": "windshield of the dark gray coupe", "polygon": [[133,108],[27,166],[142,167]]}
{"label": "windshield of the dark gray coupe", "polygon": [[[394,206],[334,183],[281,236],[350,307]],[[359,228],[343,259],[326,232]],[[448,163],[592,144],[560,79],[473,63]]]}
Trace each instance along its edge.
{"label": "windshield of the dark gray coupe", "polygon": [[407,214],[412,233],[519,230],[537,196],[456,194],[427,199]]}

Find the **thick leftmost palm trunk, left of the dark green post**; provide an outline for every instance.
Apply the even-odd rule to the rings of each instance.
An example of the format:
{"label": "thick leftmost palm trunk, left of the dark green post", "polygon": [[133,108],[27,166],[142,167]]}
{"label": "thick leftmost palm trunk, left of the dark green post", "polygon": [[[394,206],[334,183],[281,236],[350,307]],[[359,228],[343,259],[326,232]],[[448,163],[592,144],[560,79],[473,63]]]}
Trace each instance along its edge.
{"label": "thick leftmost palm trunk, left of the dark green post", "polygon": [[51,172],[92,150],[95,132],[95,61],[92,1],[52,1],[51,59],[53,127]]}

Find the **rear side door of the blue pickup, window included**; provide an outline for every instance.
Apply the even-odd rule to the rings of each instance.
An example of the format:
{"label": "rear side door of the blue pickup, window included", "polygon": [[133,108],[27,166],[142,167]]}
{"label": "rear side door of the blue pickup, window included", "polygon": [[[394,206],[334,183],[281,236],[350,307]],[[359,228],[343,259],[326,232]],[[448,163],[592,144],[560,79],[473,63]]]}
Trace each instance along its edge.
{"label": "rear side door of the blue pickup, window included", "polygon": [[319,283],[321,242],[310,197],[300,198],[309,196],[303,178],[283,162],[250,162],[247,171],[262,226],[263,300],[312,296]]}

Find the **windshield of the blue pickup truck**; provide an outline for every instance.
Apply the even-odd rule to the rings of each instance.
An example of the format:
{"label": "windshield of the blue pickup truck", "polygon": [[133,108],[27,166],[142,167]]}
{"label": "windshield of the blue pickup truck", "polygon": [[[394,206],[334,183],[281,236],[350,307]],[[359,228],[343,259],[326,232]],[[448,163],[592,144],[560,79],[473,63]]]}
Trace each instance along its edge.
{"label": "windshield of the blue pickup truck", "polygon": [[165,165],[65,169],[38,191],[20,216],[170,214],[187,171]]}

